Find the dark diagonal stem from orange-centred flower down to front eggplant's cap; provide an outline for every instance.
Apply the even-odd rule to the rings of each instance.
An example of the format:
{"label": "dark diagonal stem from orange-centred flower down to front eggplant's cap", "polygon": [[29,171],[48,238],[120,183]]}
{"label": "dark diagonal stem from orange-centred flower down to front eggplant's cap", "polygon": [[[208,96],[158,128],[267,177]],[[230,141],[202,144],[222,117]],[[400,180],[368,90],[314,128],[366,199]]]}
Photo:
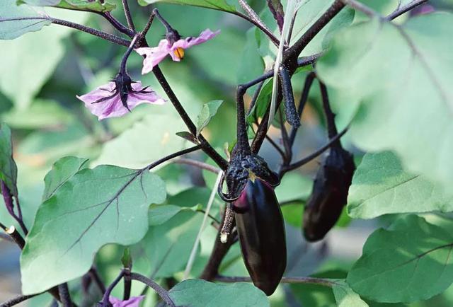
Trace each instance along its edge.
{"label": "dark diagonal stem from orange-centred flower down to front eggplant's cap", "polygon": [[[178,100],[175,93],[171,89],[170,84],[168,84],[168,81],[166,80],[164,74],[162,74],[162,71],[158,65],[154,66],[153,73],[154,76],[156,76],[157,81],[161,84],[171,103],[173,104],[173,107],[176,109],[176,111],[182,118],[183,122],[188,127],[190,133],[192,133],[193,135],[197,135],[197,127],[195,127],[193,121],[190,120],[189,115],[187,114],[187,112],[185,112],[183,105],[180,104],[180,101]],[[217,151],[215,151],[212,148],[212,146],[207,142],[207,140],[202,136],[202,134],[198,136],[198,140],[200,141],[202,151],[204,151],[205,154],[210,156],[212,160],[214,160],[214,162],[217,163],[219,168],[222,168],[222,170],[226,170],[226,168],[228,167],[228,162],[224,158],[222,158],[222,156],[220,156],[219,153],[217,153]]]}

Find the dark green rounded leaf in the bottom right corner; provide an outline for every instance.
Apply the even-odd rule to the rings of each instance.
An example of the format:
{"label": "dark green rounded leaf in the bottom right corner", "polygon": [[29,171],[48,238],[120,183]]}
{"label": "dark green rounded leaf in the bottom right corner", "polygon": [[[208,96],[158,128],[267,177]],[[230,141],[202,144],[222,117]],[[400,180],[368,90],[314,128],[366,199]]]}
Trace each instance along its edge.
{"label": "dark green rounded leaf in the bottom right corner", "polygon": [[429,299],[453,282],[452,249],[450,233],[418,216],[405,216],[369,236],[347,282],[372,301]]}

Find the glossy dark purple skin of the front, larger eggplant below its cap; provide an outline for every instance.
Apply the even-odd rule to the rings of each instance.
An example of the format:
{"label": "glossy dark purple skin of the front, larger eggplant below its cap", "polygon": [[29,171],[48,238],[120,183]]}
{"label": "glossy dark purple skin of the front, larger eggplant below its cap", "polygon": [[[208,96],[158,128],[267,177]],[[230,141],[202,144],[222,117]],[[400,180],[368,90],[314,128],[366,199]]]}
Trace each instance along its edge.
{"label": "glossy dark purple skin of the front, larger eggplant below its cap", "polygon": [[243,260],[253,284],[270,296],[286,268],[285,224],[273,187],[248,180],[233,203]]}

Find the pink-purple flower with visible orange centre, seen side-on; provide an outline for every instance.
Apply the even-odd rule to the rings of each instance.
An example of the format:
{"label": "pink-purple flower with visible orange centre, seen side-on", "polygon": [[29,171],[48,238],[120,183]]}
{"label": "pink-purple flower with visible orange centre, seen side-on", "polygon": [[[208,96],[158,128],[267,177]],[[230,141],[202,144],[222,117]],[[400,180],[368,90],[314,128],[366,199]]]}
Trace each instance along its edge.
{"label": "pink-purple flower with visible orange centre, seen side-on", "polygon": [[184,57],[185,49],[206,42],[219,33],[220,30],[212,32],[210,29],[206,29],[200,33],[200,36],[198,37],[187,37],[185,39],[179,37],[178,40],[171,40],[167,37],[166,39],[161,40],[157,47],[137,48],[135,51],[137,51],[138,54],[145,56],[142,74],[149,73],[149,71],[159,64],[167,54],[170,54],[173,61],[180,62]]}

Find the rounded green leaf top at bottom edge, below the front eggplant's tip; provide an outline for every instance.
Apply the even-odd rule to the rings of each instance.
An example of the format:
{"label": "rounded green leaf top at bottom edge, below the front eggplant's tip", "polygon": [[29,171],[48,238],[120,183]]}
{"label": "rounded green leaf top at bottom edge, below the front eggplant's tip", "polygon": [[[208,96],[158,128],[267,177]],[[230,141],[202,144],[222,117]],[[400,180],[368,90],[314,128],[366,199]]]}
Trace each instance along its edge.
{"label": "rounded green leaf top at bottom edge, below the front eggplant's tip", "polygon": [[246,307],[270,306],[268,298],[253,284],[214,284],[202,279],[188,279],[169,291],[177,306]]}

